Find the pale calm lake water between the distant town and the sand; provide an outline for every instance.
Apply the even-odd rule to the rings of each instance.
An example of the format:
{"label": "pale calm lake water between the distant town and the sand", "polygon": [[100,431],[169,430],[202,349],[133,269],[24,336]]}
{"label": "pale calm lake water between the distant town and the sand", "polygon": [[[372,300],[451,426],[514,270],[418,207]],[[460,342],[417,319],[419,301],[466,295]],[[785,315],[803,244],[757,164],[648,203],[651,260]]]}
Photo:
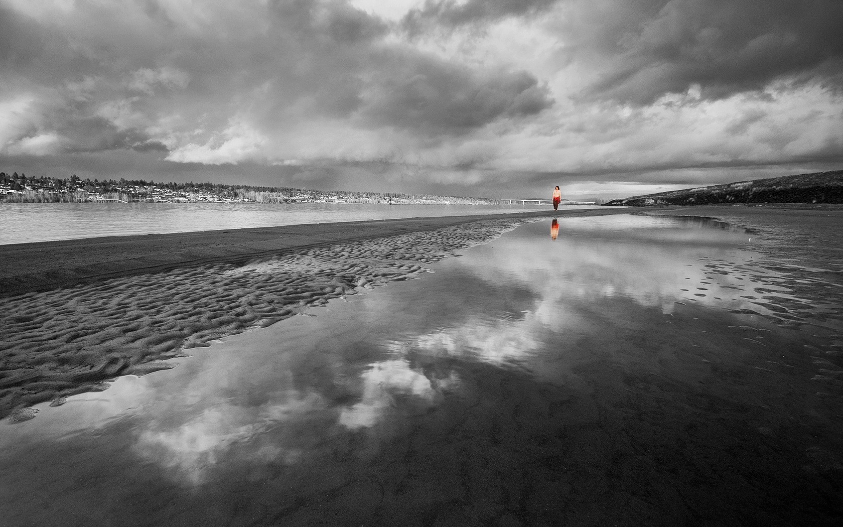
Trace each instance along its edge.
{"label": "pale calm lake water between the distant town and the sand", "polygon": [[[3,203],[0,204],[0,245],[302,223],[530,212],[549,207],[358,203]],[[589,207],[572,205],[566,210],[575,208]]]}

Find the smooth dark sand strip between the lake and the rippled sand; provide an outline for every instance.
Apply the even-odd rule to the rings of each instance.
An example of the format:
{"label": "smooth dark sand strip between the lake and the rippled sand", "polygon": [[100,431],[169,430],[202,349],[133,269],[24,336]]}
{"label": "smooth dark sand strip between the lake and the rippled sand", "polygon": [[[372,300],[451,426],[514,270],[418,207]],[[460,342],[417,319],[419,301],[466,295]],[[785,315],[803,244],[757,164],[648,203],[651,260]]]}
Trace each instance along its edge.
{"label": "smooth dark sand strip between the lake and the rippled sand", "polygon": [[237,263],[341,242],[426,232],[499,219],[604,216],[628,208],[306,223],[169,234],[139,234],[0,245],[0,298],[107,278]]}

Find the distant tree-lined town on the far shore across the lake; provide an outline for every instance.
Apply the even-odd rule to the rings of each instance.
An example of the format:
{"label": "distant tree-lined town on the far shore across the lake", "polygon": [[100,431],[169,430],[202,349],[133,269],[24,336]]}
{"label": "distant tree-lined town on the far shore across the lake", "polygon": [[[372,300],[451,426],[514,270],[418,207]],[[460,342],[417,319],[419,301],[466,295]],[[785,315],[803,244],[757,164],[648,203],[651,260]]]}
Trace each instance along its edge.
{"label": "distant tree-lined town on the far shore across the lake", "polygon": [[[316,191],[290,187],[232,186],[219,183],[155,183],[145,180],[89,180],[77,175],[52,178],[46,175],[0,172],[0,202],[252,202],[252,203],[389,203],[438,205],[500,205],[513,200],[465,196],[430,196],[399,192]],[[539,200],[514,200],[521,202]],[[541,200],[541,202],[549,200]],[[593,204],[570,202],[562,204]]]}

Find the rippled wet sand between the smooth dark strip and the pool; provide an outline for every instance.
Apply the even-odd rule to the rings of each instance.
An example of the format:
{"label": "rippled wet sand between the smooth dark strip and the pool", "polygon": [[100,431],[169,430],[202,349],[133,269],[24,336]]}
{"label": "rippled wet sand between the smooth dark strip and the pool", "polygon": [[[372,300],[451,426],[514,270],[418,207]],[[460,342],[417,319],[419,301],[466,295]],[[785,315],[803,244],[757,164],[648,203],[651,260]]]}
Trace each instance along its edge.
{"label": "rippled wet sand between the smooth dark strip and the pool", "polygon": [[271,325],[330,298],[405,280],[425,264],[485,243],[529,218],[299,249],[80,284],[0,300],[0,418],[34,417],[40,401],[103,390],[107,379],[169,368],[161,359]]}

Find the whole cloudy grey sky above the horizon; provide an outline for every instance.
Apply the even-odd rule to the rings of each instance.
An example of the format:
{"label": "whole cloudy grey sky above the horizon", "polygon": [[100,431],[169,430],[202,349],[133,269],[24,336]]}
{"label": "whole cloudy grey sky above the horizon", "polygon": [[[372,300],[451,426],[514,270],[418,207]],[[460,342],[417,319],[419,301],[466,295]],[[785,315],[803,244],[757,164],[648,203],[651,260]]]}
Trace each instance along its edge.
{"label": "whole cloudy grey sky above the horizon", "polygon": [[843,168],[840,0],[0,0],[0,170],[622,198]]}

